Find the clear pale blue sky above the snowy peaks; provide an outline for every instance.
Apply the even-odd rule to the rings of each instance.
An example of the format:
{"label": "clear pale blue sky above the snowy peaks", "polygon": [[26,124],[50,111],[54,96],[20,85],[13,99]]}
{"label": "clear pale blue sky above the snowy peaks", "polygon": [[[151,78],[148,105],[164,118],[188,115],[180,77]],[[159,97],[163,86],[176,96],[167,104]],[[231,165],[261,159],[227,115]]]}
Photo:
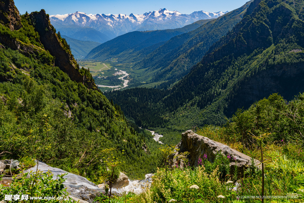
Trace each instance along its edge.
{"label": "clear pale blue sky above the snowy peaks", "polygon": [[232,11],[244,5],[248,0],[15,0],[20,14],[44,9],[48,14],[66,14],[76,11],[87,14],[143,14],[166,8],[182,14],[194,11],[218,12]]}

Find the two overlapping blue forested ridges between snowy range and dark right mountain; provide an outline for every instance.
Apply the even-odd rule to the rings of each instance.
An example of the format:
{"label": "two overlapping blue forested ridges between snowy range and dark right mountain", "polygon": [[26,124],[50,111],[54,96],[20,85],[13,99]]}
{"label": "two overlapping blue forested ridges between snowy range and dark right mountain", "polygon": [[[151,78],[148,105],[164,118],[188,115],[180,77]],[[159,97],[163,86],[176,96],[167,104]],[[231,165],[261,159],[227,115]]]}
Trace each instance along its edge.
{"label": "two overlapping blue forested ridges between snowy range and dark right mountain", "polygon": [[250,3],[216,19],[199,20],[182,28],[123,34],[95,47],[86,58],[132,63],[133,70],[145,70],[136,77],[137,82],[175,81],[241,21]]}

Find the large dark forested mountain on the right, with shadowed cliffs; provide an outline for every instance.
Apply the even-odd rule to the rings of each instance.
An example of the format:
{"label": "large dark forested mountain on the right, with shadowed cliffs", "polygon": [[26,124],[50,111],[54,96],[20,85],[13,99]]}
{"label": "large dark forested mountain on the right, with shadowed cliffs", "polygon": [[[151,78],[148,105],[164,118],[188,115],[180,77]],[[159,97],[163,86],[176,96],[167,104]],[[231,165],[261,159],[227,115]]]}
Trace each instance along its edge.
{"label": "large dark forested mountain on the right, with shadowed cliffs", "polygon": [[[177,131],[223,124],[237,108],[247,108],[272,93],[291,100],[304,92],[303,5],[303,1],[255,0],[240,23],[168,90],[135,88],[106,96],[118,104],[129,102],[132,111],[123,109],[126,116],[147,128],[157,127],[153,119],[129,114],[141,112],[139,104],[162,118],[163,128]],[[152,93],[154,99],[142,96]]]}

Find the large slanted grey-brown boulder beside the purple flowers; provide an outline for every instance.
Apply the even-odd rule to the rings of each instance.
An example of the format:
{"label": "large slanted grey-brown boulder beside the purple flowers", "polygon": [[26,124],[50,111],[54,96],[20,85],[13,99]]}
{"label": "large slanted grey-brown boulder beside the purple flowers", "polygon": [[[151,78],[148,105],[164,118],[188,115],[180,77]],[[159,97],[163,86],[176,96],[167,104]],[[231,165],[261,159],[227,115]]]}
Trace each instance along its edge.
{"label": "large slanted grey-brown boulder beside the purple flowers", "polygon": [[[227,145],[219,142],[215,142],[207,137],[197,135],[192,130],[188,130],[181,134],[181,142],[178,143],[177,147],[180,149],[175,155],[181,152],[190,152],[189,163],[192,166],[196,166],[199,156],[203,157],[207,154],[207,159],[213,162],[216,158],[216,153],[222,151],[225,155],[230,155],[230,167],[233,171],[234,166],[238,168],[238,172],[243,172],[251,162],[251,158],[235,149],[231,149]],[[261,162],[254,159],[255,165],[260,168]]]}

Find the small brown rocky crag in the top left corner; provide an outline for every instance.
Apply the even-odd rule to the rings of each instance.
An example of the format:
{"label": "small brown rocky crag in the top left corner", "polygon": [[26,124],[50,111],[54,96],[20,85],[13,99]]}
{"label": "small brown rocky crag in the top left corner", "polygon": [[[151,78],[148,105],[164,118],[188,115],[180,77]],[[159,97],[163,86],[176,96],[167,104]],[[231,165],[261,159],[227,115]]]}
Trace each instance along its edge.
{"label": "small brown rocky crag in the top left corner", "polygon": [[0,23],[8,26],[10,30],[22,28],[19,11],[12,0],[0,1]]}

